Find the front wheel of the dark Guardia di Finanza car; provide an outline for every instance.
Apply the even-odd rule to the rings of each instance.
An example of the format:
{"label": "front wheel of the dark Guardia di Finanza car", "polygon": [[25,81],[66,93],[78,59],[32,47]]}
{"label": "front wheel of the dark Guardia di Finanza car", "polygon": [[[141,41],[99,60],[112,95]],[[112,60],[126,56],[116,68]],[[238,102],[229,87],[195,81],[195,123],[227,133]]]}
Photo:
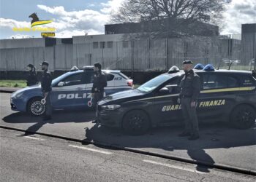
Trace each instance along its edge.
{"label": "front wheel of the dark Guardia di Finanza car", "polygon": [[129,111],[125,114],[122,128],[129,135],[142,135],[148,131],[151,124],[148,115],[139,110]]}

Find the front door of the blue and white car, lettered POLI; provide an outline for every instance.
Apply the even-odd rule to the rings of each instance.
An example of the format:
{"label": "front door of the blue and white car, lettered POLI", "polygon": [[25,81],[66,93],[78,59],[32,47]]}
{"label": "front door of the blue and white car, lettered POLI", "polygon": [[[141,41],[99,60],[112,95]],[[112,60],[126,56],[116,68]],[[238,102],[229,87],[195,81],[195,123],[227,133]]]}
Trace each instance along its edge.
{"label": "front door of the blue and white car, lettered POLI", "polygon": [[52,101],[54,108],[84,106],[87,97],[83,72],[71,74],[53,87]]}

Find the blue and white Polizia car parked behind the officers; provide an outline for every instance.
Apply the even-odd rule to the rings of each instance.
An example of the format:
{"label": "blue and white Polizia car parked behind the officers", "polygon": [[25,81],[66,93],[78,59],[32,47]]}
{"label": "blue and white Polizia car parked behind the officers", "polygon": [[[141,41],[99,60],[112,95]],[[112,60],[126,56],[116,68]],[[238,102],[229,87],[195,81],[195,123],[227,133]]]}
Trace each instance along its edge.
{"label": "blue and white Polizia car parked behind the officers", "polygon": [[[121,71],[102,70],[102,72],[108,80],[105,95],[132,89],[132,79],[122,74]],[[83,70],[75,67],[66,74],[53,79],[51,93],[53,109],[90,108],[92,106],[91,87],[93,77],[93,66],[86,66]],[[13,92],[10,103],[14,111],[28,112],[40,116],[45,112],[45,105],[42,104],[41,100],[41,86],[35,85]]]}

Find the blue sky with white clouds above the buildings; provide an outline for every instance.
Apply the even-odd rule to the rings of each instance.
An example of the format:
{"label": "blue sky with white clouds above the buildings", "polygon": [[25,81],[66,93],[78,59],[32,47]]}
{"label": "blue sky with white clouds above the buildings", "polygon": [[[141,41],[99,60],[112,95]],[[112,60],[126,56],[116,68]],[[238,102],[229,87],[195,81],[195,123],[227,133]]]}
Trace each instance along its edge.
{"label": "blue sky with white clouds above the buildings", "polygon": [[[126,0],[0,0],[0,39],[40,37],[39,31],[13,31],[30,27],[29,15],[37,12],[39,20],[53,20],[42,27],[56,28],[56,37],[104,34],[110,12]],[[241,24],[256,23],[256,0],[232,0],[225,6],[221,34],[241,33]]]}

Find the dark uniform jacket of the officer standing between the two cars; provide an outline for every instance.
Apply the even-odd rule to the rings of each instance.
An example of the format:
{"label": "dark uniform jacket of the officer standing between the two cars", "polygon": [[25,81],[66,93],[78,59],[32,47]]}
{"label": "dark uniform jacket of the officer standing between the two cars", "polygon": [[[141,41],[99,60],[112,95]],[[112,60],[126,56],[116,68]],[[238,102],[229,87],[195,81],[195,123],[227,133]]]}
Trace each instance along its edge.
{"label": "dark uniform jacket of the officer standing between the two cars", "polygon": [[[94,74],[94,82],[91,92],[104,92],[104,87],[107,87],[107,78],[104,74],[102,74],[102,71],[99,71],[97,74]],[[97,91],[95,91],[95,88],[97,88]]]}

